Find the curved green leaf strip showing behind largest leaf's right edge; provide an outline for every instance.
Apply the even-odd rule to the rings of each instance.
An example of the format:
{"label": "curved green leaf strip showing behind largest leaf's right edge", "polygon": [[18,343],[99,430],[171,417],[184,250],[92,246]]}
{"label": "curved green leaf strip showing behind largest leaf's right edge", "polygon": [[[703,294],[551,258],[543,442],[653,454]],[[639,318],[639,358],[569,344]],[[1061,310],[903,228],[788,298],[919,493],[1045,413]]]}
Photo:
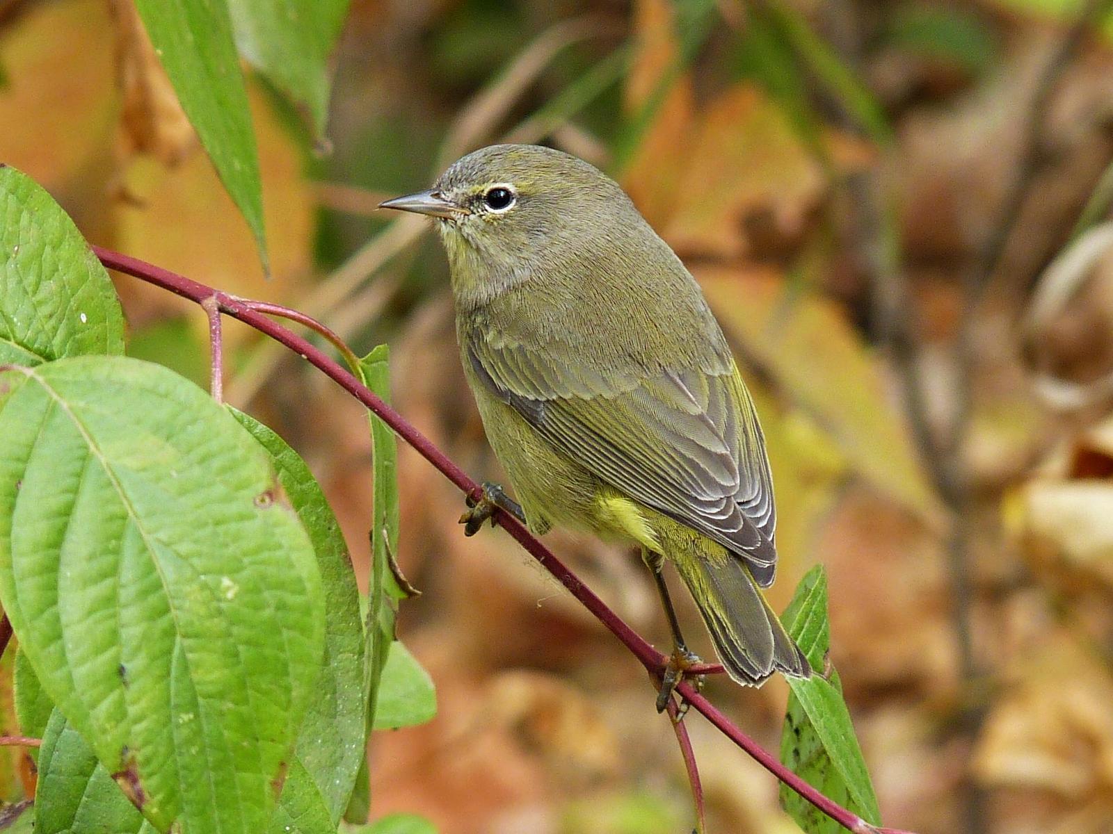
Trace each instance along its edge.
{"label": "curved green leaf strip showing behind largest leaf's right edge", "polygon": [[[278,483],[317,554],[325,592],[324,665],[302,721],[296,749],[301,765],[326,801],[335,828],[365,759],[363,624],[352,559],[336,516],[305,461],[262,423],[243,411],[230,407],[229,410],[267,450],[278,473]],[[283,804],[293,777],[292,765]]]}

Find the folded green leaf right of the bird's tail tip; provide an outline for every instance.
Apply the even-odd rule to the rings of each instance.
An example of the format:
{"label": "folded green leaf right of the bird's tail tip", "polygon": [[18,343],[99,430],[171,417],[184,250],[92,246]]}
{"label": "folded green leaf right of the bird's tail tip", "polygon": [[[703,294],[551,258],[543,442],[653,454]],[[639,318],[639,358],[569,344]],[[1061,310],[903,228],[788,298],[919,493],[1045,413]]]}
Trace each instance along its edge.
{"label": "folded green leaf right of the bird's tail tip", "polygon": [[[830,645],[827,619],[827,576],[817,565],[796,588],[781,617],[785,627],[808,656],[812,668],[823,669]],[[850,714],[843,701],[838,675],[826,681],[789,678],[791,693],[780,741],[781,761],[811,786],[850,808],[866,822],[880,825],[877,797],[861,748],[854,735]],[[837,823],[784,785],[785,810],[808,834],[836,834]]]}

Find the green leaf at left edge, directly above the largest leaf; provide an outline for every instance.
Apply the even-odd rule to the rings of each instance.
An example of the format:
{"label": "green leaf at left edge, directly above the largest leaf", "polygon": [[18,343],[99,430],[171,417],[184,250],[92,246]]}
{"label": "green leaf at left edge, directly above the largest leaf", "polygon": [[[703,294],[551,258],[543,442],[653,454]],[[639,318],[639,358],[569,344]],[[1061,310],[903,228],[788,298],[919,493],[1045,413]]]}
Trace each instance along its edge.
{"label": "green leaf at left edge, directly above the largest leaf", "polygon": [[0,365],[122,353],[108,272],[49,193],[0,166]]}

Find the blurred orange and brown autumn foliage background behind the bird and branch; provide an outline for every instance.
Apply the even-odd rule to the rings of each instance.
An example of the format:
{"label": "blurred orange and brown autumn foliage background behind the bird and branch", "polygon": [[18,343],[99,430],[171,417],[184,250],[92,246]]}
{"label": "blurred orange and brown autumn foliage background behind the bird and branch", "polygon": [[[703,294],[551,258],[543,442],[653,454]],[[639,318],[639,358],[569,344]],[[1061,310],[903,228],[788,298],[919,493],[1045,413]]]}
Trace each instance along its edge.
{"label": "blurred orange and brown autumn foliage background behind the bird and branch", "polygon": [[[1099,834],[1113,831],[1110,6],[353,0],[327,140],[249,85],[267,281],[130,3],[0,0],[0,160],[93,242],[302,309],[361,353],[390,342],[400,410],[493,479],[440,247],[421,218],[374,207],[498,140],[608,170],[737,350],[777,487],[771,597],[827,566],[831,659],[886,821]],[[118,288],[130,351],[204,384],[204,317]],[[358,407],[246,328],[226,339],[228,401],[305,456],[365,579]],[[683,831],[683,766],[639,665],[503,534],[465,539],[459,495],[407,449],[400,478],[398,558],[424,592],[400,635],[440,713],[376,742],[374,813],[445,834]],[[637,556],[550,538],[667,644]],[[778,746],[784,682],[708,689]],[[796,831],[770,777],[690,729],[711,831]]]}

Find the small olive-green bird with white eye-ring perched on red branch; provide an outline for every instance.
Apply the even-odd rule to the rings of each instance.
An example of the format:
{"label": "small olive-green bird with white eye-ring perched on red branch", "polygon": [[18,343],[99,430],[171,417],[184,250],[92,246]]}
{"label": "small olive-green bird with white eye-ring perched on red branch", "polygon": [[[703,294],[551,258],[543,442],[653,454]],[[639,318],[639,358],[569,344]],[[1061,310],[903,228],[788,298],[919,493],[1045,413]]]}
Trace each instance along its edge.
{"label": "small olive-green bird with white eye-ring perched on red branch", "polygon": [[735,681],[810,674],[760,590],[777,552],[754,403],[699,285],[619,185],[568,153],[496,145],[383,207],[436,218],[464,371],[529,527],[641,547],[676,643],[658,708],[696,659],[666,560]]}

